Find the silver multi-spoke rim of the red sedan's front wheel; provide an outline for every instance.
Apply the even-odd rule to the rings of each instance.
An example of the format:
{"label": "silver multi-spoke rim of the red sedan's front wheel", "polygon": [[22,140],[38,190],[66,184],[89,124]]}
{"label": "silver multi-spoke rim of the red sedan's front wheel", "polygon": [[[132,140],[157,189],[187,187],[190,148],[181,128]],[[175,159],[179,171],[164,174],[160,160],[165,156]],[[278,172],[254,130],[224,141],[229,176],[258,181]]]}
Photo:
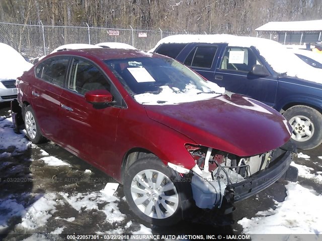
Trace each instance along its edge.
{"label": "silver multi-spoke rim of the red sedan's front wheel", "polygon": [[131,195],[137,208],[152,218],[170,217],[178,209],[176,186],[169,177],[156,170],[137,173],[131,183]]}

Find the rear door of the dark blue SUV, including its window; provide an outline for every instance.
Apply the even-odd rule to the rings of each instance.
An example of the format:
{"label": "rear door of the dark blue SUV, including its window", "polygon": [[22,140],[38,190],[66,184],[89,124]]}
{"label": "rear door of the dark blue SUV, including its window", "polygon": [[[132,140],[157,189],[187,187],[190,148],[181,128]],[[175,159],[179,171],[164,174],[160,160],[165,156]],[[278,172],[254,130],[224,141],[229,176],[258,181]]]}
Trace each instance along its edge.
{"label": "rear door of the dark blue SUV, including its window", "polygon": [[212,81],[219,52],[217,44],[193,43],[188,44],[176,59]]}

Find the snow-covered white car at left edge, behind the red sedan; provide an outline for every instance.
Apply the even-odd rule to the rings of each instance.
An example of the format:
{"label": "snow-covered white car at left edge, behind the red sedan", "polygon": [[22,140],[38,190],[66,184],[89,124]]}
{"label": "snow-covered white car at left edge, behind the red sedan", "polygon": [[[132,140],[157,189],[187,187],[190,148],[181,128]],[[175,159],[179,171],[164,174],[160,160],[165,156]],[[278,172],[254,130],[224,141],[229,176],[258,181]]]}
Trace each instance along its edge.
{"label": "snow-covered white car at left edge, behind the red sedan", "polygon": [[11,101],[17,98],[16,79],[33,64],[28,63],[11,46],[0,43],[0,102]]}

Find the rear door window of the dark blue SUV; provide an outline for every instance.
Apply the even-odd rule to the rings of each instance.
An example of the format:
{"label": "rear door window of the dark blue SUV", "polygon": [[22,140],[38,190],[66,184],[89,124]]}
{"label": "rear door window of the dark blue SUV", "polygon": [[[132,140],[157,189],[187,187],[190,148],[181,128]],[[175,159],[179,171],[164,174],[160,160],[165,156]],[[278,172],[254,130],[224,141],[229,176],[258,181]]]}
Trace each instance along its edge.
{"label": "rear door window of the dark blue SUV", "polygon": [[216,46],[195,47],[186,58],[184,64],[191,67],[211,68],[216,51]]}

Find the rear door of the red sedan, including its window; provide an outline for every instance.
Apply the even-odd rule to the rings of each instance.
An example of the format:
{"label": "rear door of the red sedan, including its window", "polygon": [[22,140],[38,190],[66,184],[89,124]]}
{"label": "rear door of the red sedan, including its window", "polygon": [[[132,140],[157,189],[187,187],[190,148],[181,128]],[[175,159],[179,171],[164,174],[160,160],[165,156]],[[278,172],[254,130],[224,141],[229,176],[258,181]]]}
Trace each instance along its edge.
{"label": "rear door of the red sedan, including its window", "polygon": [[31,105],[45,137],[57,143],[60,128],[60,95],[69,65],[69,57],[52,57],[35,68],[31,87]]}

